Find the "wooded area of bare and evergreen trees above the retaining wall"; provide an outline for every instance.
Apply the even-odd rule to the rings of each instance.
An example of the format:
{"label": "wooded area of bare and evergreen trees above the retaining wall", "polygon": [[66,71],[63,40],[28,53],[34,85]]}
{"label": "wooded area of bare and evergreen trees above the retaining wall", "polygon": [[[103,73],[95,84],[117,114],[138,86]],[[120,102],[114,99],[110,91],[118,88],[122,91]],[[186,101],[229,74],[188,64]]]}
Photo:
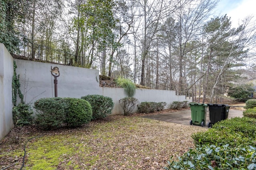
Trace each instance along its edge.
{"label": "wooded area of bare and evergreen trees above the retaining wall", "polygon": [[0,43],[31,60],[98,69],[213,103],[229,89],[246,91],[256,61],[253,16],[235,27],[215,14],[217,2],[0,0]]}

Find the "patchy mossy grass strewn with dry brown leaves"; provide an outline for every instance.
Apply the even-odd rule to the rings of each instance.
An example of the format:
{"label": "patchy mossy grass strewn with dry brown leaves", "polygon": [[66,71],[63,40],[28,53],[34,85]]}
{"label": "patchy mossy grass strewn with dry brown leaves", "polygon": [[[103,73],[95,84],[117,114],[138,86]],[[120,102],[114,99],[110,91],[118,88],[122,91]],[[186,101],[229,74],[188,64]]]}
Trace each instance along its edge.
{"label": "patchy mossy grass strewn with dry brown leaves", "polygon": [[18,143],[10,135],[0,143],[0,168],[24,170],[144,170],[162,169],[170,156],[182,156],[194,147],[192,133],[200,126],[179,125],[138,116],[112,115],[77,129],[39,131],[17,129]]}

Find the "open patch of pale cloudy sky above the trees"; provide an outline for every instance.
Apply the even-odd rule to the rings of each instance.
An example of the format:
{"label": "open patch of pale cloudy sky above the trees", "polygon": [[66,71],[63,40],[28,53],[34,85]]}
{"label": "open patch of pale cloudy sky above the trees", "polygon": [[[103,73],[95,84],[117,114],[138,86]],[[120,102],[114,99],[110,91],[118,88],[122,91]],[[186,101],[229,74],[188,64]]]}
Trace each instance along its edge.
{"label": "open patch of pale cloudy sky above the trees", "polygon": [[[232,26],[237,27],[239,21],[253,15],[256,20],[256,0],[220,0],[217,13],[231,17]],[[218,14],[217,14],[218,15]]]}

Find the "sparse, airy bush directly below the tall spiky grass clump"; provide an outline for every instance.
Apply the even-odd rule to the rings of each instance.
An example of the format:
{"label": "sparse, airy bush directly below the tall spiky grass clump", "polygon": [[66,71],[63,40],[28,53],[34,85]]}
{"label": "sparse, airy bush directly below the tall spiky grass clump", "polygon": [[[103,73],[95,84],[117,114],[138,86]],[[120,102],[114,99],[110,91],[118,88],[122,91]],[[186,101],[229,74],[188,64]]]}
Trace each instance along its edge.
{"label": "sparse, airy bush directly below the tall spiky grass clump", "polygon": [[136,98],[122,98],[119,103],[124,110],[124,115],[130,115],[134,110],[136,104],[138,104],[138,99]]}

